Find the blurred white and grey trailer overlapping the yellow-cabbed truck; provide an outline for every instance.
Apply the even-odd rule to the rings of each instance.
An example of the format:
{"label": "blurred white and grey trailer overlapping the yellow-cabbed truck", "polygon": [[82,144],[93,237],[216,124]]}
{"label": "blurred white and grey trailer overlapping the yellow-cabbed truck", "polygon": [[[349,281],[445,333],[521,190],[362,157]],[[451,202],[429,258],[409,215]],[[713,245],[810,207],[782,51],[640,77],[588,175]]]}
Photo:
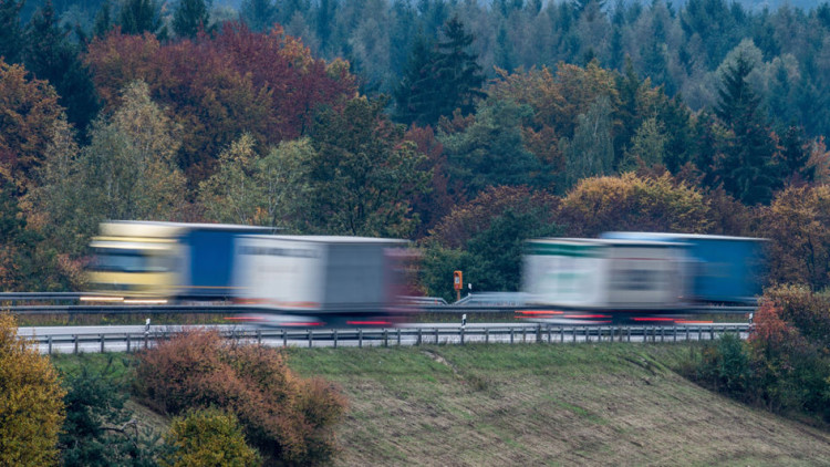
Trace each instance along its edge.
{"label": "blurred white and grey trailer overlapping the yellow-cabbed truck", "polygon": [[235,286],[241,303],[273,309],[272,325],[391,324],[407,241],[332,236],[242,236]]}

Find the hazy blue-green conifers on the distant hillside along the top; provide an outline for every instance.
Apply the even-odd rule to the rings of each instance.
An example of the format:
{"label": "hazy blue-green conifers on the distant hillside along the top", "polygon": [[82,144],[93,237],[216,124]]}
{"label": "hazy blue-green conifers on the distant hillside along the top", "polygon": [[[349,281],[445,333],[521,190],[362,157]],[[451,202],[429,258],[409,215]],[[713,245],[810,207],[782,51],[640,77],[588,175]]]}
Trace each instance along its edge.
{"label": "hazy blue-green conifers on the distant hillside along the top", "polygon": [[[24,21],[43,3],[25,2]],[[241,19],[253,31],[279,23],[317,56],[349,60],[369,94],[392,94],[418,44],[437,43],[440,28],[454,15],[475,38],[470,51],[488,79],[496,75],[496,66],[513,71],[556,68],[560,62],[584,65],[593,59],[602,68],[622,72],[630,58],[639,76],[665,86],[670,96],[682,95],[693,110],[715,105],[719,70],[730,54],[743,50],[757,62],[750,81],[777,125],[798,122],[809,135],[830,133],[827,2],[809,10],[784,4],[774,11],[726,0],[52,2],[61,24],[80,28],[86,35],[101,32],[106,15],[129,32],[133,27],[126,24],[122,10],[132,3],[153,8],[157,17],[153,32],[172,38],[175,12],[189,3],[212,7],[204,17],[206,23]]]}

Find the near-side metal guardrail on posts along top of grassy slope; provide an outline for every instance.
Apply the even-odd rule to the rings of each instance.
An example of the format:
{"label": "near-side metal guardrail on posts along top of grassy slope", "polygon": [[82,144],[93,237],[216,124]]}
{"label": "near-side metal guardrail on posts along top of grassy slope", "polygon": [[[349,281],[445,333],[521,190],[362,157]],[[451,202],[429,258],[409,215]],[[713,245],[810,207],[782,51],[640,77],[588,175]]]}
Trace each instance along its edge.
{"label": "near-side metal guardrail on posts along top of grassy slope", "polygon": [[[595,326],[542,325],[523,328],[394,328],[394,329],[258,329],[235,330],[220,334],[226,339],[274,346],[350,345],[388,346],[467,343],[585,343],[585,342],[681,342],[719,339],[724,334],[748,332],[740,325],[675,325],[675,326]],[[154,346],[180,331],[144,333],[51,334],[31,338],[43,353],[134,352]]]}

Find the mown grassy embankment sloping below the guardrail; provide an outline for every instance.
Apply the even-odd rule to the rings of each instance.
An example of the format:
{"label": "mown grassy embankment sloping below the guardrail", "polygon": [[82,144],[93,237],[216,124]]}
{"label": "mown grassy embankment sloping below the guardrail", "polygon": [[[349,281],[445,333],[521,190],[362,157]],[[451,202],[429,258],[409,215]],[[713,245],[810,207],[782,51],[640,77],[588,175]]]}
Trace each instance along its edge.
{"label": "mown grassy embankment sloping below the guardrail", "polygon": [[830,465],[830,433],[675,373],[691,349],[291,349],[290,362],[349,396],[338,465]]}

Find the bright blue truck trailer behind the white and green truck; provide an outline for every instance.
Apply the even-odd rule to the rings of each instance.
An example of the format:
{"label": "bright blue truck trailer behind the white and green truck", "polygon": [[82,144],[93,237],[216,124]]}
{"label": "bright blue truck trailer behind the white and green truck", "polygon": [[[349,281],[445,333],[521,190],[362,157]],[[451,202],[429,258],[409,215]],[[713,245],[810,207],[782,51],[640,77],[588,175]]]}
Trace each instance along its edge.
{"label": "bright blue truck trailer behind the white and green truck", "polygon": [[762,292],[767,240],[695,234],[604,232],[606,239],[684,243],[691,299],[705,303],[751,304]]}

